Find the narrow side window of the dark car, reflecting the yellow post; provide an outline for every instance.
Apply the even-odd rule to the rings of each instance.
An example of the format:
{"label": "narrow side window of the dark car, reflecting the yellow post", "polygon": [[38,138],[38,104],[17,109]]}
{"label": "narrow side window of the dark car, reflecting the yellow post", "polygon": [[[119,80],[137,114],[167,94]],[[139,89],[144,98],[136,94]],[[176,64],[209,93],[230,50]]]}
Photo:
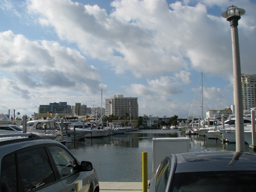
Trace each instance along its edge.
{"label": "narrow side window of the dark car, reflecting the yellow post", "polygon": [[171,159],[166,157],[156,173],[156,192],[165,191],[171,170]]}

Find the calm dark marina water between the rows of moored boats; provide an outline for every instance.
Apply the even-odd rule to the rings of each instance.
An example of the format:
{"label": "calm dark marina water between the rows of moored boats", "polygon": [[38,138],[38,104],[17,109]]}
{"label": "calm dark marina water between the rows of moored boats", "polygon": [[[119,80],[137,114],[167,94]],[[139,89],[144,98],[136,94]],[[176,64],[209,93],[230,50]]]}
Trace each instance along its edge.
{"label": "calm dark marina water between the rows of moored boats", "polygon": [[[91,161],[98,172],[99,181],[142,182],[142,152],[148,152],[148,179],[152,174],[152,139],[163,137],[186,137],[178,130],[141,130],[105,138],[85,139],[66,143],[66,147],[79,161]],[[235,151],[236,144],[191,135],[190,151]],[[253,152],[245,144],[246,152]]]}

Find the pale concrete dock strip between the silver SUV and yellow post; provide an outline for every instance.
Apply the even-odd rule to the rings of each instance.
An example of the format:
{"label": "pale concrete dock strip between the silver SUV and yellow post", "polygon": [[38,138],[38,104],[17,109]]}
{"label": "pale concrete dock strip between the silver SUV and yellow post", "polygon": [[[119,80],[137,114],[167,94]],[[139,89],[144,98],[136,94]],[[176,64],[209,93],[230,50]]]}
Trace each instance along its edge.
{"label": "pale concrete dock strip between the silver SUV and yellow post", "polygon": [[142,192],[142,182],[99,182],[100,192]]}

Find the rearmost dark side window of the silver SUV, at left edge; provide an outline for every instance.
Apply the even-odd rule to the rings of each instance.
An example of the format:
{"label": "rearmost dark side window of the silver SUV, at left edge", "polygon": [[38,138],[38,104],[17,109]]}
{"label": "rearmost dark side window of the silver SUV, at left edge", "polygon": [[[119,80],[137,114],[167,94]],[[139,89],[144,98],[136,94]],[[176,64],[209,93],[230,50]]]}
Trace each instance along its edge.
{"label": "rearmost dark side window of the silver SUV, at left edge", "polygon": [[4,156],[1,163],[1,191],[17,191],[15,155]]}

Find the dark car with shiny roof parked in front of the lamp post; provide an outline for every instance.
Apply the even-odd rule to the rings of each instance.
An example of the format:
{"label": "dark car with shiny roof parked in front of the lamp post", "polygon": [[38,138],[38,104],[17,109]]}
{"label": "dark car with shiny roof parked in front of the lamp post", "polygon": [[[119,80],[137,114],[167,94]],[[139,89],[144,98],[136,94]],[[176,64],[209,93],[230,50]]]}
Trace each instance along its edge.
{"label": "dark car with shiny roof parked in front of the lamp post", "polygon": [[164,158],[148,192],[255,191],[256,155],[231,151],[171,154]]}

